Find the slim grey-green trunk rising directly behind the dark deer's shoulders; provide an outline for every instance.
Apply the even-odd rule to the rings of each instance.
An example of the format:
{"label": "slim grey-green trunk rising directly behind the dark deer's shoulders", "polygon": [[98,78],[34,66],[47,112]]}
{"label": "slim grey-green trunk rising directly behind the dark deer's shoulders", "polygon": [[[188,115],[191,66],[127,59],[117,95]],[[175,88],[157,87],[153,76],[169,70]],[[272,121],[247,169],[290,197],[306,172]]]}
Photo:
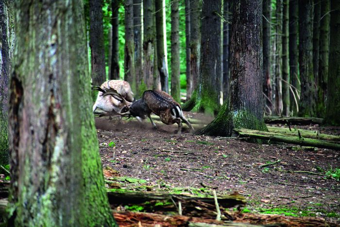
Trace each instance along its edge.
{"label": "slim grey-green trunk rising directly behind the dark deer's shoulders", "polygon": [[153,88],[153,75],[154,75],[154,61],[156,59],[155,48],[155,25],[154,25],[154,0],[143,0],[143,52],[144,52],[144,66],[143,78],[144,82],[140,85],[140,90]]}

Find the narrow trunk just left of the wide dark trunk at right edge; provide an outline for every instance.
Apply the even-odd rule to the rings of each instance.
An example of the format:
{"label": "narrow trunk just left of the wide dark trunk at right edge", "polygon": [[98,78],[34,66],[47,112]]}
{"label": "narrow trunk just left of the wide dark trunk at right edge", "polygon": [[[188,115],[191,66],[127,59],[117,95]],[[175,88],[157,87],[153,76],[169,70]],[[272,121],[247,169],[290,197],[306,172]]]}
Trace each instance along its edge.
{"label": "narrow trunk just left of the wide dark trunk at right edge", "polygon": [[326,113],[326,90],[328,76],[328,58],[329,58],[329,22],[330,22],[330,0],[321,2],[321,20],[320,20],[320,62],[318,76],[318,101],[317,116],[324,117]]}

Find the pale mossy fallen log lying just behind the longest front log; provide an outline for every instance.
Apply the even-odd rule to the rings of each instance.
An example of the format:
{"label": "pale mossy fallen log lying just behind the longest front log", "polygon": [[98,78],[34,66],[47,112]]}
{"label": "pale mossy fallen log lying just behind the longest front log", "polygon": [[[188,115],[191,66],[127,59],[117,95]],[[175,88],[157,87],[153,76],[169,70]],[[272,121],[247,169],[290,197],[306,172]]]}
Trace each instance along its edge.
{"label": "pale mossy fallen log lying just behind the longest front log", "polygon": [[299,136],[300,135],[304,138],[311,138],[316,140],[329,140],[334,142],[340,142],[340,136],[334,136],[334,135],[328,135],[328,134],[321,134],[319,131],[312,131],[312,130],[306,130],[306,129],[297,129],[293,128],[291,131],[289,128],[281,128],[281,127],[272,127],[267,126],[269,132],[274,133],[281,133],[281,134],[287,134],[289,136]]}

